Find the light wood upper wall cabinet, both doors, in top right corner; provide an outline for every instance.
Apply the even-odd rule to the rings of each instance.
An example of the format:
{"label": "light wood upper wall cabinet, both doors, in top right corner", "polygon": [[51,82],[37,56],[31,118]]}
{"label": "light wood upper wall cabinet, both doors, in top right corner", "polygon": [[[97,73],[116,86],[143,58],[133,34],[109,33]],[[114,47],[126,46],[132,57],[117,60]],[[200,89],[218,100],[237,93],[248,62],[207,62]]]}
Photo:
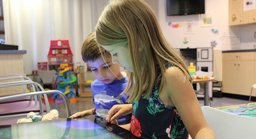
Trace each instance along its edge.
{"label": "light wood upper wall cabinet, both doors, in top right corner", "polygon": [[229,26],[256,23],[256,9],[243,11],[244,0],[229,0]]}

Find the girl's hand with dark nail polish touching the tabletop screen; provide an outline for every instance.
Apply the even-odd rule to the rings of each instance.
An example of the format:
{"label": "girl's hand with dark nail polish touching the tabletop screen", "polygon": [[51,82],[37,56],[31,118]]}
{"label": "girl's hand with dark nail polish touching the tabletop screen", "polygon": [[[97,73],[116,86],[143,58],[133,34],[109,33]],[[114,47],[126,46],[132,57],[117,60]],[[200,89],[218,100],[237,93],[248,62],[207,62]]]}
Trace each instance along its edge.
{"label": "girl's hand with dark nail polish touching the tabletop screen", "polygon": [[132,113],[132,104],[118,104],[114,105],[109,111],[108,115],[106,116],[106,121],[111,122],[116,120],[120,116],[124,116],[127,114]]}

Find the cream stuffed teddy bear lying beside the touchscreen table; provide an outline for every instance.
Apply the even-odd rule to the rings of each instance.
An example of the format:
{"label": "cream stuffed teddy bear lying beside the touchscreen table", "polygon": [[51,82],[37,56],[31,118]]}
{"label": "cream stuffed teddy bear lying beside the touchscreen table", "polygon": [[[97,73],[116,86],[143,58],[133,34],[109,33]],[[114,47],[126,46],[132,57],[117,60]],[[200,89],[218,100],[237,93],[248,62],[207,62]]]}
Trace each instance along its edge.
{"label": "cream stuffed teddy bear lying beside the touchscreen table", "polygon": [[52,120],[52,119],[57,119],[58,116],[59,116],[59,112],[55,109],[51,110],[50,113],[47,113],[44,116],[38,116],[36,113],[30,112],[27,115],[27,117],[29,117],[28,119],[26,118],[18,119],[17,123]]}

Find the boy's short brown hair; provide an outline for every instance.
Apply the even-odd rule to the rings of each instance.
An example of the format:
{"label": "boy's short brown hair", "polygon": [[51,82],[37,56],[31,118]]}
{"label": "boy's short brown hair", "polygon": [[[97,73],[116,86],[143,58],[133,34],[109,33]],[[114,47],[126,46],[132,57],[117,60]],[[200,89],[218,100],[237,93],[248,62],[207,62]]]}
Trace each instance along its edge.
{"label": "boy's short brown hair", "polygon": [[98,46],[95,38],[95,32],[92,32],[86,37],[83,42],[81,54],[84,62],[94,62],[98,58],[102,58],[100,52],[102,52],[103,56],[111,57],[110,53],[107,50],[105,50],[101,46]]}

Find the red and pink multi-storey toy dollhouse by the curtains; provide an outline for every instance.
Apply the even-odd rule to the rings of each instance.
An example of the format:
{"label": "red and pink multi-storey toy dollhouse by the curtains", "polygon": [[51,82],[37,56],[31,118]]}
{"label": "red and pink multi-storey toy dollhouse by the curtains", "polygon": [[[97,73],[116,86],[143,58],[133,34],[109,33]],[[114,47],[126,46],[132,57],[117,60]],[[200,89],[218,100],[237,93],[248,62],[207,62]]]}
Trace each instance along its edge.
{"label": "red and pink multi-storey toy dollhouse by the curtains", "polygon": [[[58,43],[61,43],[58,45]],[[57,70],[61,64],[74,67],[73,54],[70,50],[68,40],[51,40],[48,53],[48,62],[38,62],[38,70]]]}

